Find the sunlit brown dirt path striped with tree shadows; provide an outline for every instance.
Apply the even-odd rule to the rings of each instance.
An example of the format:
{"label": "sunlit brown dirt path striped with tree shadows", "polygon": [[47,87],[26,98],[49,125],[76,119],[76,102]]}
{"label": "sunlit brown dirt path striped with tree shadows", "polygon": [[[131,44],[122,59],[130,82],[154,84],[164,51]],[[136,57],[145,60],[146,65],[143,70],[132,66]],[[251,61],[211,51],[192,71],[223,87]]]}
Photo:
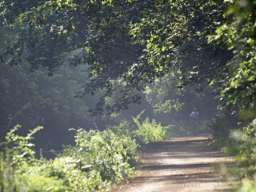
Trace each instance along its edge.
{"label": "sunlit brown dirt path striped with tree shadows", "polygon": [[234,175],[220,170],[235,158],[210,147],[210,141],[200,134],[145,145],[141,174],[112,191],[234,191]]}

